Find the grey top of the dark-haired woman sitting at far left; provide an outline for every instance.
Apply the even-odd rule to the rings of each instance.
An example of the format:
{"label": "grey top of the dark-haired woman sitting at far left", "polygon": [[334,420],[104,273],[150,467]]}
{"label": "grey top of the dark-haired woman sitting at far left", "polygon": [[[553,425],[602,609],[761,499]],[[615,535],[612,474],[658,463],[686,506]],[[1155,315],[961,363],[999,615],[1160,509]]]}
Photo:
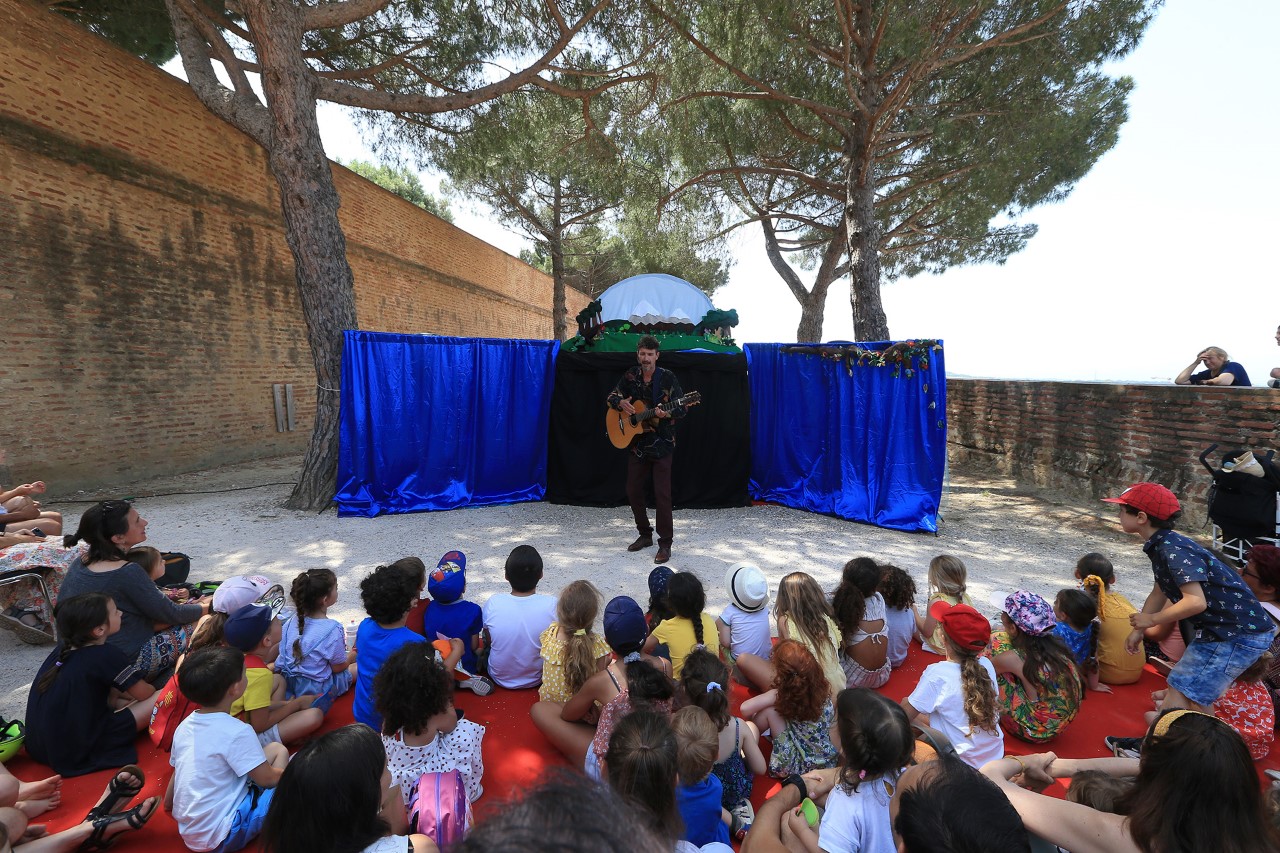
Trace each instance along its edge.
{"label": "grey top of the dark-haired woman sitting at far left", "polygon": [[128,654],[129,660],[136,658],[155,634],[155,622],[186,625],[204,613],[200,605],[175,605],[165,598],[146,570],[136,562],[127,562],[110,571],[90,571],[77,557],[67,570],[58,601],[91,592],[110,596],[115,601],[120,611],[120,630],[108,637],[106,642]]}

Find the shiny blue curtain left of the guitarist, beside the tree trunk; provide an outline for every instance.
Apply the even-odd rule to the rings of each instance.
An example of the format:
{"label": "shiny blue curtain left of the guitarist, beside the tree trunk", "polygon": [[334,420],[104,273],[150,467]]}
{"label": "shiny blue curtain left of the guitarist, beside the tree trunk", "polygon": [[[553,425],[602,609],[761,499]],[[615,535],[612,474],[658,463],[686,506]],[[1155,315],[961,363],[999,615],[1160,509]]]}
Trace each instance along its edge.
{"label": "shiny blue curtain left of the guitarist, beside the tree trunk", "polygon": [[558,348],[347,332],[338,515],[541,500]]}

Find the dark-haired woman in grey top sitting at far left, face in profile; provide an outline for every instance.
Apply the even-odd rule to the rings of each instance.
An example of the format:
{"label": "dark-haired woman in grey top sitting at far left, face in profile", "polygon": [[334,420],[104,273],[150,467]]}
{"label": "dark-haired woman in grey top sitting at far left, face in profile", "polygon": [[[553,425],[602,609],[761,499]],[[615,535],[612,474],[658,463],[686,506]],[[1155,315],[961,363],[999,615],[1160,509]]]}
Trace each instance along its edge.
{"label": "dark-haired woman in grey top sitting at far left, face in profile", "polygon": [[145,680],[154,681],[187,651],[189,630],[209,612],[211,599],[191,605],[169,601],[147,570],[125,557],[146,538],[147,523],[128,501],[91,506],[76,533],[64,539],[68,548],[87,542],[88,553],[72,562],[58,597],[109,596],[120,608],[120,630],[106,642],[134,661]]}

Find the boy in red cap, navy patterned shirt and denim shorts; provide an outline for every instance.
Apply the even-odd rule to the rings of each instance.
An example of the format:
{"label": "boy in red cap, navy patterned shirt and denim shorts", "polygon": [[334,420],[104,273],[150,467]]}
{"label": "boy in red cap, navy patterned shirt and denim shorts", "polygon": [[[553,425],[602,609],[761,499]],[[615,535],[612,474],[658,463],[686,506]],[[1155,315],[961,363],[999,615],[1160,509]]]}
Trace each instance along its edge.
{"label": "boy in red cap, navy patterned shirt and denim shorts", "polygon": [[1275,633],[1271,619],[1240,575],[1208,548],[1174,533],[1181,506],[1164,485],[1138,483],[1103,500],[1120,505],[1120,526],[1142,537],[1156,576],[1142,612],[1129,617],[1133,631],[1125,648],[1137,654],[1146,629],[1190,620],[1196,634],[1169,674],[1160,707],[1213,713],[1235,676],[1267,651]]}

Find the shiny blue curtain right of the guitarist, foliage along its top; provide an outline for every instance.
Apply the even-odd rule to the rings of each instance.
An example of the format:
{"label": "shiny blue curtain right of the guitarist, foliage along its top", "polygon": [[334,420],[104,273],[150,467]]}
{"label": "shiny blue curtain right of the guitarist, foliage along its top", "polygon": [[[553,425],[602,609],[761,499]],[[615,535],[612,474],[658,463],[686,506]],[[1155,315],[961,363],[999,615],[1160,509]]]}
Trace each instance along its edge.
{"label": "shiny blue curtain right of the guitarist, foliage along its top", "polygon": [[[938,529],[946,465],[946,371],[745,347],[751,387],[751,496],[897,530]],[[887,343],[860,345],[883,348]],[[911,375],[908,375],[910,370]]]}

